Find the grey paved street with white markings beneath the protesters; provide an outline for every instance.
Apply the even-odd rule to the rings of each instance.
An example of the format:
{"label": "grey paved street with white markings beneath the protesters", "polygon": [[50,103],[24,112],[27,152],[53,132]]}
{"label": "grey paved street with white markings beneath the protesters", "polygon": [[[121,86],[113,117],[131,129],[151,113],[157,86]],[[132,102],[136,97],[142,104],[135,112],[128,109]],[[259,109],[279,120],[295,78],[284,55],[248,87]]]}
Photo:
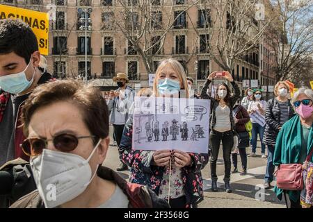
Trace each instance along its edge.
{"label": "grey paved street with white markings beneath the protesters", "polygon": [[[110,135],[112,134],[110,128]],[[113,142],[112,138],[111,141]],[[259,144],[259,143],[258,143]],[[247,148],[247,153],[250,148]],[[239,171],[241,169],[240,156]],[[243,207],[243,208],[285,208],[284,200],[276,198],[272,190],[262,189],[264,182],[264,172],[266,170],[266,159],[261,158],[261,148],[257,147],[257,157],[248,157],[248,173],[246,176],[240,176],[234,173],[231,176],[231,185],[233,192],[227,194],[223,189],[223,152],[220,149],[218,155],[218,192],[211,191],[210,169],[209,164],[202,170],[204,178],[204,200],[199,204],[201,208],[220,208],[220,207]],[[116,169],[119,164],[118,149],[116,146],[110,146],[104,165],[111,169]],[[123,178],[129,178],[129,172],[120,173]],[[275,185],[275,184],[273,184]]]}

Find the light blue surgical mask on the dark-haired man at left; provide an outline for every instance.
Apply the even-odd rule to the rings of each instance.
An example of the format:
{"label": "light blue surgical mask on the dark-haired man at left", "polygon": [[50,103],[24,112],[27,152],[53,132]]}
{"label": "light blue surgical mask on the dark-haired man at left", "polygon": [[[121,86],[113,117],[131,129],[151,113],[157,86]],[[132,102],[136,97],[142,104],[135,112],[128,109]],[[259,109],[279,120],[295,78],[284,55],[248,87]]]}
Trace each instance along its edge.
{"label": "light blue surgical mask on the dark-haired man at left", "polygon": [[[31,60],[29,61],[31,64]],[[26,66],[24,71],[21,71],[17,74],[10,74],[0,77],[0,87],[11,94],[19,94],[24,90],[28,89],[33,83],[33,77],[35,76],[35,70],[33,71],[33,77],[31,80],[27,80],[25,71],[29,67],[29,64]]]}

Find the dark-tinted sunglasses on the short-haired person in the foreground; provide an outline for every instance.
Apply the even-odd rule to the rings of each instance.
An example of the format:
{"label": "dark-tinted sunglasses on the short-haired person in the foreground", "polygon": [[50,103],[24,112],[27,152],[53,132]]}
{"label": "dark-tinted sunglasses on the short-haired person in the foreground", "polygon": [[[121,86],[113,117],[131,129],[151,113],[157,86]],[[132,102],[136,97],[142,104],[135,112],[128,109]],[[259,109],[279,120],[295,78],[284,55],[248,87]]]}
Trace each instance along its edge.
{"label": "dark-tinted sunglasses on the short-haired person in the foreground", "polygon": [[53,139],[40,139],[40,138],[27,138],[24,142],[20,145],[23,152],[28,156],[36,156],[41,155],[44,148],[47,148],[48,142],[52,141],[54,147],[58,151],[62,152],[70,152],[74,151],[77,148],[79,143],[79,139],[85,138],[93,138],[95,136],[81,136],[76,137],[70,134],[61,134],[57,135]]}

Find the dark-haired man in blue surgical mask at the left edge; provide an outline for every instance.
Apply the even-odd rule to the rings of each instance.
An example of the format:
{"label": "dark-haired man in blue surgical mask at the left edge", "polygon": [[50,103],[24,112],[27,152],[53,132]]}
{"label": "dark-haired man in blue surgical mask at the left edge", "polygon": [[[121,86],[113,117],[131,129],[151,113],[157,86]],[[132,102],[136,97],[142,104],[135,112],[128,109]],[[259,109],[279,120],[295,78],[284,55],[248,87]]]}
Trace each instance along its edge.
{"label": "dark-haired man in blue surgical mask at the left edge", "polygon": [[[52,79],[51,74],[39,67],[39,63],[38,41],[31,28],[21,20],[1,19],[0,88],[10,93],[10,98],[6,110],[3,110],[0,127],[0,167],[13,160],[9,164],[10,167],[1,171],[7,171],[12,178],[20,179],[14,182],[12,187],[7,187],[11,191],[6,194],[6,199],[0,198],[0,207],[8,207],[19,197],[36,189],[33,177],[27,173],[23,165],[19,164],[21,160],[17,158],[29,161],[29,157],[19,146],[25,139],[20,127],[22,105],[37,85]],[[0,184],[8,183],[3,180],[6,178],[0,178]],[[2,191],[0,190],[1,194]]]}

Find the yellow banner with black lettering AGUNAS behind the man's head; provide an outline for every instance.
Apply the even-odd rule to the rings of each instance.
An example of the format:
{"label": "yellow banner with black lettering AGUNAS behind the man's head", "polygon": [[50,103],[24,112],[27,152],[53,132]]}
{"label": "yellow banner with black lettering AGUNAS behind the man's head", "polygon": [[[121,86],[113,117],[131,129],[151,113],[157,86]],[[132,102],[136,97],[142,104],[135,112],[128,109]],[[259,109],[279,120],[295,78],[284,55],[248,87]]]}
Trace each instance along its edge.
{"label": "yellow banner with black lettering AGUNAS behind the man's head", "polygon": [[48,13],[0,5],[0,19],[22,19],[35,33],[40,53],[48,55]]}

